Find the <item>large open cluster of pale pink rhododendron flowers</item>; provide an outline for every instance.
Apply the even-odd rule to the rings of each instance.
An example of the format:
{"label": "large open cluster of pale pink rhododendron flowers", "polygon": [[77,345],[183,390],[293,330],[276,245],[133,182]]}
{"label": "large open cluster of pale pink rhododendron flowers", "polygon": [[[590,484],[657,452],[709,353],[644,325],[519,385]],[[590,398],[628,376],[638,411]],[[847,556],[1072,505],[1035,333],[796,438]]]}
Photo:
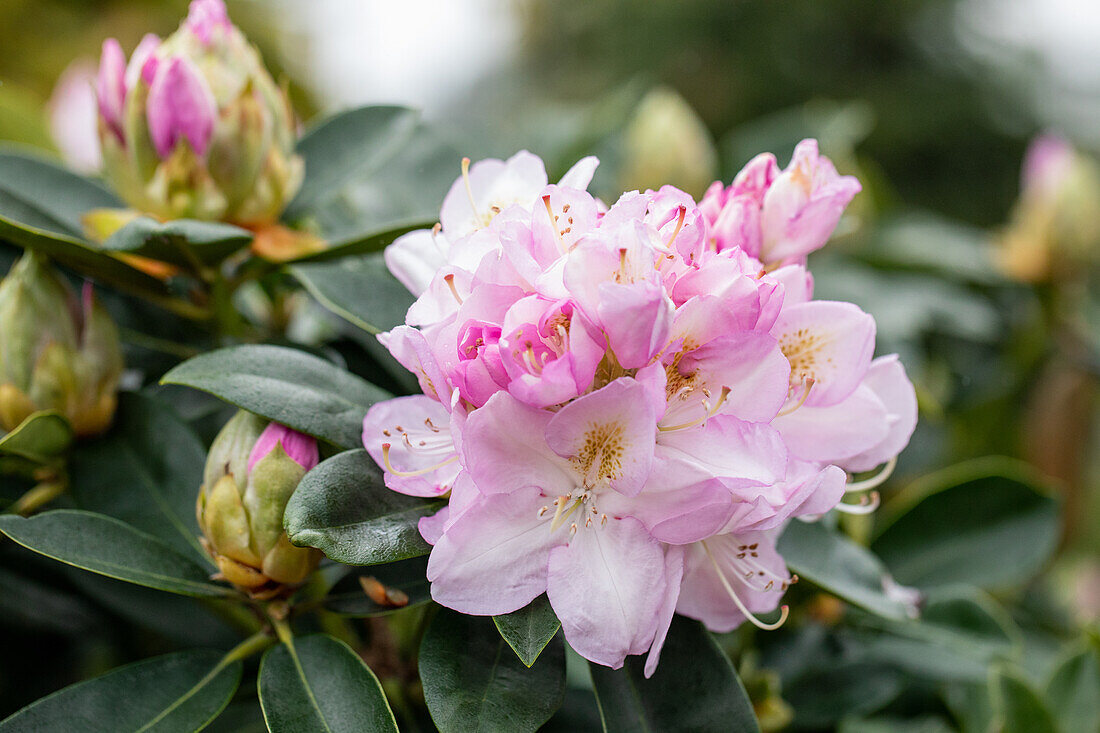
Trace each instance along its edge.
{"label": "large open cluster of pale pink rhododendron flowers", "polygon": [[608,208],[596,163],[548,185],[526,152],[463,161],[440,223],[387,249],[418,299],[380,339],[424,394],[375,405],[363,441],[391,489],[450,496],[420,524],[436,601],[547,593],[580,654],[648,650],[651,674],[673,613],[770,626],[778,533],[866,508],[842,499],[888,472],[916,402],[869,315],[813,299],[805,255],[859,190],[814,141],[698,203],[664,186]]}

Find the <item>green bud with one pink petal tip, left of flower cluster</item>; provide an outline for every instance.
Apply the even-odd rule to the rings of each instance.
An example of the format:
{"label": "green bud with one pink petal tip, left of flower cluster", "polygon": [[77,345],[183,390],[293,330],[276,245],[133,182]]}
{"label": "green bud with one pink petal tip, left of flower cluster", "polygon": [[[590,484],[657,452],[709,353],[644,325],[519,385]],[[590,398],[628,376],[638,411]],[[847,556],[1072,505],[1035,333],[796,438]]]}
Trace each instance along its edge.
{"label": "green bud with one pink petal tip, left of flower cluster", "polygon": [[283,528],[290,494],[317,461],[314,438],[251,413],[238,413],[221,429],[196,511],[226,580],[253,597],[274,598],[317,567],[320,551],[295,547]]}

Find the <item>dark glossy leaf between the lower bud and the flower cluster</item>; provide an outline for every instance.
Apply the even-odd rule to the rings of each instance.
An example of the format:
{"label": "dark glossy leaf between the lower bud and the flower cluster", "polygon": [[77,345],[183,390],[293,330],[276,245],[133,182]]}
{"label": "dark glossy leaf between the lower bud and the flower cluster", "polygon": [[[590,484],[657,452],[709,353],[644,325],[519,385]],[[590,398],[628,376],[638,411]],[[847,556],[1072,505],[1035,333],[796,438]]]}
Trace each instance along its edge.
{"label": "dark glossy leaf between the lower bud and the flower cluster", "polygon": [[417,523],[442,505],[387,489],[382,469],[359,449],[307,473],[286,505],[284,523],[295,545],[317,547],[345,565],[377,565],[431,551]]}

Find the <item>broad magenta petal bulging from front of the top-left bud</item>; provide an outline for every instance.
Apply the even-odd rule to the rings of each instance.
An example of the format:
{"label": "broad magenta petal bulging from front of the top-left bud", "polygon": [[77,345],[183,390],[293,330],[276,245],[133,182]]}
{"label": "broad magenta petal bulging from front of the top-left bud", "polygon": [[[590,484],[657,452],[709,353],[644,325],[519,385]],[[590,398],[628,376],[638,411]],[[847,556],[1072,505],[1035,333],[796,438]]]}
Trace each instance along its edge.
{"label": "broad magenta petal bulging from front of the top-left bud", "polygon": [[172,154],[180,138],[197,155],[205,155],[217,116],[213,94],[195,64],[176,57],[156,65],[146,117],[161,158]]}

